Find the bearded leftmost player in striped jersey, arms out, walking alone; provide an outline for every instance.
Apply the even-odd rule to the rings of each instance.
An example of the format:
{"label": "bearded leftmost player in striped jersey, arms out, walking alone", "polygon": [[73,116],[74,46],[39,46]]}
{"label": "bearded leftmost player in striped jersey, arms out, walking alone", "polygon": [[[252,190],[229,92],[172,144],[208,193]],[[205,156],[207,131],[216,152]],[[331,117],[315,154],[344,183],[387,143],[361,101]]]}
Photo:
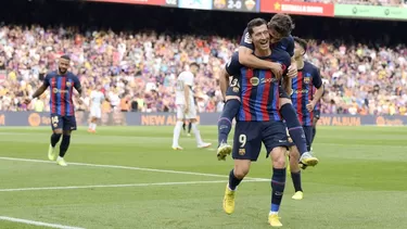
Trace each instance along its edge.
{"label": "bearded leftmost player in striped jersey, arms out, walking alone", "polygon": [[[48,150],[48,158],[51,161],[56,160],[56,163],[61,166],[67,165],[64,156],[69,148],[72,130],[76,130],[73,90],[75,88],[79,94],[82,91],[78,77],[67,71],[69,63],[69,56],[61,56],[58,71],[47,74],[41,87],[25,101],[26,103],[30,103],[33,99],[39,98],[50,87],[50,118],[53,133]],[[56,155],[55,145],[60,141],[61,136],[60,154]]]}

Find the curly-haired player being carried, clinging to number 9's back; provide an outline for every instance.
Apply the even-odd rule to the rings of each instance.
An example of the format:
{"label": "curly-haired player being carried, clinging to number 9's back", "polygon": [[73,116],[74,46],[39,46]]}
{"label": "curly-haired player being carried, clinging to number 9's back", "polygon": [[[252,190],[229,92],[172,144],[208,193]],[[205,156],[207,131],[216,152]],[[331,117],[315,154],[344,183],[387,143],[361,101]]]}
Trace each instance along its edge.
{"label": "curly-haired player being carried, clinging to number 9's back", "polygon": [[[271,37],[271,46],[274,49],[279,51],[285,51],[293,56],[294,54],[294,40],[291,37],[291,30],[293,29],[293,23],[289,15],[287,14],[276,14],[271,21],[268,23],[268,28]],[[240,63],[255,68],[262,69],[270,69],[275,66],[270,66],[271,62],[257,59],[253,55],[253,51],[255,47],[247,34],[247,28],[243,33],[243,37],[239,48],[239,60]],[[244,60],[244,61],[242,61]],[[292,59],[291,63],[293,67],[290,66],[288,75],[293,77],[296,75],[296,63],[295,60]],[[275,63],[276,64],[276,63]],[[279,65],[277,63],[277,65]],[[277,76],[279,76],[278,71],[272,71]],[[285,85],[287,90],[291,87],[291,81],[285,80],[288,84]],[[218,120],[218,150],[217,150],[217,157],[218,160],[225,160],[228,154],[231,153],[231,145],[227,143],[228,135],[231,130],[232,119],[236,116],[238,109],[240,106],[240,100],[238,99],[238,88],[231,85],[233,91],[228,90],[228,98],[226,98],[227,102],[225,104],[222,114]],[[295,110],[291,103],[289,96],[284,92],[283,89],[281,91],[281,99],[280,103],[280,113],[282,117],[285,119],[287,126],[289,128],[289,132],[291,138],[293,139],[294,143],[297,145],[300,150],[301,158],[300,161],[305,165],[315,166],[318,164],[318,158],[314,157],[306,147],[305,133],[303,128],[300,125],[298,118],[296,117]]]}

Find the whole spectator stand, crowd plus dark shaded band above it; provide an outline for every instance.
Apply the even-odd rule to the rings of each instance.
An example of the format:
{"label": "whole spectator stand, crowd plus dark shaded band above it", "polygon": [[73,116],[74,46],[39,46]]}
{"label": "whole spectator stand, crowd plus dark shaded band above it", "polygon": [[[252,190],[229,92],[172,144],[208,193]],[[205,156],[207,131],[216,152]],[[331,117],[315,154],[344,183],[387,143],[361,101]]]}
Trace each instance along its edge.
{"label": "whole spectator stand, crowd plus dark shaded band above it", "polygon": [[[173,112],[175,79],[188,63],[198,62],[201,69],[194,91],[199,112],[219,112],[224,105],[219,71],[238,48],[242,26],[255,16],[270,16],[238,13],[238,17],[226,12],[125,4],[78,5],[72,1],[10,4],[25,13],[0,9],[9,21],[0,24],[0,111],[49,111],[48,91],[28,106],[23,99],[40,86],[48,72],[56,69],[58,58],[66,53],[72,58],[71,71],[86,89],[84,101],[76,98],[78,110],[88,110],[90,90],[102,86],[110,99],[103,104],[104,112]],[[58,7],[66,11],[52,10]],[[107,20],[115,18],[117,12],[138,16]],[[151,20],[139,23],[138,18],[149,16]],[[186,16],[188,23],[183,23]],[[225,23],[213,26],[219,20]],[[296,17],[294,22],[294,35],[318,39],[309,40],[306,59],[320,67],[325,77],[322,113],[407,114],[407,48],[395,46],[407,39],[399,33],[404,25],[325,17]],[[308,25],[315,24],[321,26],[309,29]],[[378,28],[382,33],[377,33]]]}

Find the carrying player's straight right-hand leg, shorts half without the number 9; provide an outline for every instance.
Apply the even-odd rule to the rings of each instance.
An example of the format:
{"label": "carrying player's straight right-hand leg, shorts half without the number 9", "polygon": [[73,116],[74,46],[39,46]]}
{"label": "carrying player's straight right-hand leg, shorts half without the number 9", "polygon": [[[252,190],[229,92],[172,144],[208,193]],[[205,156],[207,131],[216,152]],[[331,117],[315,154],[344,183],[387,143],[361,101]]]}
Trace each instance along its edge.
{"label": "carrying player's straight right-hand leg, shorts half without the number 9", "polygon": [[265,122],[263,125],[262,139],[272,164],[271,205],[268,221],[272,227],[281,227],[278,213],[285,189],[285,152],[289,140],[282,122]]}

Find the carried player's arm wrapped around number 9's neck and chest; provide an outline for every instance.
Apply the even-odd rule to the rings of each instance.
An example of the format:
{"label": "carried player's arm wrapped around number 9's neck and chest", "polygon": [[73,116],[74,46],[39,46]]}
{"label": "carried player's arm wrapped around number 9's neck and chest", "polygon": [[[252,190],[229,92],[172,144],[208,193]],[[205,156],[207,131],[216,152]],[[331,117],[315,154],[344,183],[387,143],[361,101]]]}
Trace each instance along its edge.
{"label": "carried player's arm wrapped around number 9's neck and chest", "polygon": [[243,37],[240,41],[239,47],[239,62],[247,67],[260,68],[260,69],[271,69],[271,72],[280,77],[281,76],[281,65],[279,63],[274,63],[256,58],[254,54],[254,44],[249,35],[247,29],[244,30]]}

